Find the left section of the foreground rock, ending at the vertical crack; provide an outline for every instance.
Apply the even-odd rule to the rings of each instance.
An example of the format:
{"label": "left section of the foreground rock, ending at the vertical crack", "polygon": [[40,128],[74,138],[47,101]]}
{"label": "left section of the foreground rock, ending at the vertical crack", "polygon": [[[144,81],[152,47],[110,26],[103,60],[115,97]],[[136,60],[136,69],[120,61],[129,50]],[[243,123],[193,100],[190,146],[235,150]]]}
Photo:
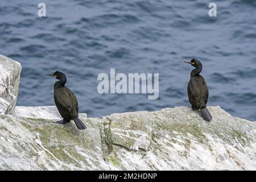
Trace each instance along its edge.
{"label": "left section of the foreground rock, ending at the vertical crack", "polygon": [[2,115],[0,169],[110,169],[101,157],[97,119],[85,124],[88,130],[81,132],[73,122],[60,125],[47,119]]}

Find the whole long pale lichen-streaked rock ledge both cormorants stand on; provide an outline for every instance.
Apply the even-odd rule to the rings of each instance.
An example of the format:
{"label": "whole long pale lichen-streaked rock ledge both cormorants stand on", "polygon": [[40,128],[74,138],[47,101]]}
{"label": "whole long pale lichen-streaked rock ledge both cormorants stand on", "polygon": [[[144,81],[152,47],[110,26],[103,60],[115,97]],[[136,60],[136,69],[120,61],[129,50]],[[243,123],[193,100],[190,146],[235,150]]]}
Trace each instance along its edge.
{"label": "whole long pale lichen-streaked rock ledge both cormorants stand on", "polygon": [[52,119],[30,117],[33,109],[23,107],[26,117],[1,115],[0,168],[255,170],[256,123],[219,106],[208,109],[212,122],[188,107],[175,107],[82,118],[88,129],[81,131],[73,122],[54,123],[54,113]]}

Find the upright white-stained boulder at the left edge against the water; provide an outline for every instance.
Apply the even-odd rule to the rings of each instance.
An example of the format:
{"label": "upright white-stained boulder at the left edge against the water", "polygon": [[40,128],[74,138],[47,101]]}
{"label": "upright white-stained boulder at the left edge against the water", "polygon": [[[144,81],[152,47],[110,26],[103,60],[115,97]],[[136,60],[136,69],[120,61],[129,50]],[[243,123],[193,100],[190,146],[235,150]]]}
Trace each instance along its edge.
{"label": "upright white-stained boulder at the left edge against the water", "polygon": [[0,114],[13,113],[19,90],[21,65],[0,55]]}

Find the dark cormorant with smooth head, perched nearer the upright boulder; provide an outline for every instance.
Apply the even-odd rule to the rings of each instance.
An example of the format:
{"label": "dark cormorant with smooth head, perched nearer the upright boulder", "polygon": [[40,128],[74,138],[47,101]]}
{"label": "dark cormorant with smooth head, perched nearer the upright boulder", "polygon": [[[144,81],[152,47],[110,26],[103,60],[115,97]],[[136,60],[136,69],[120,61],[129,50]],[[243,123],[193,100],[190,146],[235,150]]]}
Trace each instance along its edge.
{"label": "dark cormorant with smooth head, perched nearer the upright boulder", "polygon": [[73,119],[79,130],[86,129],[84,123],[79,119],[79,106],[76,96],[67,86],[65,86],[65,83],[67,82],[65,74],[56,71],[53,74],[47,75],[60,80],[56,81],[54,84],[54,101],[61,117],[63,117],[63,119],[61,121],[57,121],[57,123],[65,124]]}

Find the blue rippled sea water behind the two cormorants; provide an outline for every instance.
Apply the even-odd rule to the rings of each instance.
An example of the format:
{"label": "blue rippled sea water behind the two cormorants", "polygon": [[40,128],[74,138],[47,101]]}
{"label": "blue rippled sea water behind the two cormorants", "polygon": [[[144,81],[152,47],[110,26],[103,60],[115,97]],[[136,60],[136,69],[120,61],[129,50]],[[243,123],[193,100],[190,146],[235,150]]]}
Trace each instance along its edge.
{"label": "blue rippled sea water behind the two cormorants", "polygon": [[[18,105],[54,105],[56,70],[68,76],[80,112],[89,117],[189,106],[187,84],[197,57],[208,82],[208,105],[256,120],[256,1],[2,1],[1,54],[22,63]],[[145,94],[99,94],[97,76],[159,73],[159,99]]]}

